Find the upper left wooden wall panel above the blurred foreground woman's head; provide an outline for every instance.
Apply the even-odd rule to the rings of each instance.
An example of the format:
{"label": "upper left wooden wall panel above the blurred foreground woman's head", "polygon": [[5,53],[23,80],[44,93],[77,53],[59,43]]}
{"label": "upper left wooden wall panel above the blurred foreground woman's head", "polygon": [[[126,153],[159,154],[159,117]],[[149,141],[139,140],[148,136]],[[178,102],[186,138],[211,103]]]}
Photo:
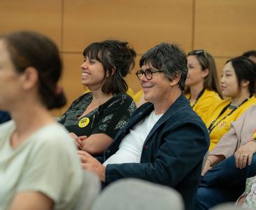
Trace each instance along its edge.
{"label": "upper left wooden wall panel above the blurred foreground woman's head", "polygon": [[0,0],[0,33],[33,30],[61,46],[62,0]]}

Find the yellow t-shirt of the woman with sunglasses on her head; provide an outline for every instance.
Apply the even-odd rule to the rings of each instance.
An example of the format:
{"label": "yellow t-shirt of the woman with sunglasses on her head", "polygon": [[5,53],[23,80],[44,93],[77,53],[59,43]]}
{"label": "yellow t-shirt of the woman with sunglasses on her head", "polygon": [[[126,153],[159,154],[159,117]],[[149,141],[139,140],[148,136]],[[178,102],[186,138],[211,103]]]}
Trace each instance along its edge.
{"label": "yellow t-shirt of the woman with sunglasses on her head", "polygon": [[[189,99],[190,94],[186,94],[187,99]],[[206,113],[210,107],[220,104],[222,99],[219,94],[213,90],[205,90],[201,97],[198,99],[196,104],[193,106],[194,102],[190,102],[190,105],[193,106],[193,110],[198,114],[199,117],[203,120],[203,123],[206,123]]]}

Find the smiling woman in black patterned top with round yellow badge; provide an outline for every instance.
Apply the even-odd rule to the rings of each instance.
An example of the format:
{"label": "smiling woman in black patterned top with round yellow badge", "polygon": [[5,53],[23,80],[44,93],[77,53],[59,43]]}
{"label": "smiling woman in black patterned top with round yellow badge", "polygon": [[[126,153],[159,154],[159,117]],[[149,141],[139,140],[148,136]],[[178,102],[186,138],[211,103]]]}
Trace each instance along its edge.
{"label": "smiling woman in black patterned top with round yellow badge", "polygon": [[133,69],[136,53],[127,42],[102,41],[88,45],[83,57],[81,82],[90,92],[76,99],[59,122],[79,150],[100,156],[136,109],[123,79]]}

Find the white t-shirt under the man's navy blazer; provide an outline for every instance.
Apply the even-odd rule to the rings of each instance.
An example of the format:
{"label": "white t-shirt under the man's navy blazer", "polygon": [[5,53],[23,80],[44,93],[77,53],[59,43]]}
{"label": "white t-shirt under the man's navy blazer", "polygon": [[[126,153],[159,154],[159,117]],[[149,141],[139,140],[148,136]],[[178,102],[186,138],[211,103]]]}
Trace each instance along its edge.
{"label": "white t-shirt under the man's navy blazer", "polygon": [[149,116],[141,120],[140,123],[137,123],[137,125],[130,130],[130,133],[123,138],[119,145],[119,150],[109,157],[103,165],[106,167],[108,164],[114,163],[140,162],[144,141],[161,116],[163,116],[163,114],[156,115],[156,113],[152,111]]}

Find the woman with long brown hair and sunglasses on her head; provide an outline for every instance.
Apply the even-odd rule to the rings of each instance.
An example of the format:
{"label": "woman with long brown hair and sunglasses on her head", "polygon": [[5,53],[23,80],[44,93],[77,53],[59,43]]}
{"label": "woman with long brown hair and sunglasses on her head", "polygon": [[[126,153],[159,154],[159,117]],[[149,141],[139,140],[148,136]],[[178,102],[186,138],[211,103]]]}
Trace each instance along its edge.
{"label": "woman with long brown hair and sunglasses on her head", "polygon": [[205,114],[210,106],[222,101],[215,61],[206,50],[193,50],[187,55],[187,66],[184,93],[193,110],[206,123]]}

